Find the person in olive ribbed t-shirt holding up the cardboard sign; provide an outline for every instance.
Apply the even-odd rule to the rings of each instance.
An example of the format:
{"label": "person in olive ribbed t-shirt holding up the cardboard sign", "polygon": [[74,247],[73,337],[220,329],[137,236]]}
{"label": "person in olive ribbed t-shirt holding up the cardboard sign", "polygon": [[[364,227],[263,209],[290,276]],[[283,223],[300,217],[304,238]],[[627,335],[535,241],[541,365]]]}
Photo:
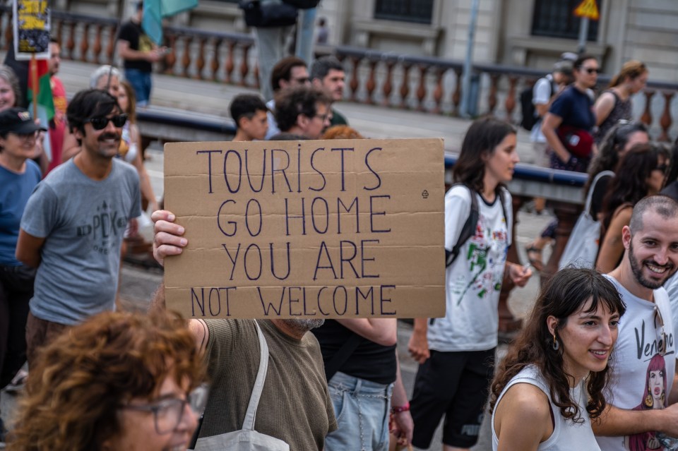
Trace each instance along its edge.
{"label": "person in olive ribbed t-shirt holding up the cardboard sign", "polygon": [[[179,255],[188,244],[186,230],[174,224],[172,212],[153,212],[153,255],[160,265],[165,257]],[[164,284],[153,296],[155,308],[165,308]],[[323,450],[325,435],[337,428],[327,388],[323,357],[310,330],[323,319],[231,320],[191,319],[189,329],[205,354],[210,397],[196,450],[223,449],[219,435],[239,431],[250,402],[259,369],[257,326],[268,345],[268,369],[256,410],[254,431],[282,440],[290,450]],[[285,449],[273,447],[270,450]],[[263,448],[262,448],[263,449]]]}

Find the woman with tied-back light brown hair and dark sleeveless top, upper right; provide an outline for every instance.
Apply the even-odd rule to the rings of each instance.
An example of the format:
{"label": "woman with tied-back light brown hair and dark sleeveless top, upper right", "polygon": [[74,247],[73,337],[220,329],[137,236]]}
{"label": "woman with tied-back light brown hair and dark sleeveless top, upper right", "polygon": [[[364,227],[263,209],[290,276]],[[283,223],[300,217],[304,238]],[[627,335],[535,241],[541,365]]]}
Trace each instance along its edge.
{"label": "woman with tied-back light brown hair and dark sleeveless top, upper right", "polygon": [[593,134],[596,145],[605,138],[610,128],[620,120],[631,120],[631,96],[645,88],[648,83],[648,68],[641,61],[626,61],[622,70],[609,82],[609,87],[597,98],[595,124],[598,130]]}

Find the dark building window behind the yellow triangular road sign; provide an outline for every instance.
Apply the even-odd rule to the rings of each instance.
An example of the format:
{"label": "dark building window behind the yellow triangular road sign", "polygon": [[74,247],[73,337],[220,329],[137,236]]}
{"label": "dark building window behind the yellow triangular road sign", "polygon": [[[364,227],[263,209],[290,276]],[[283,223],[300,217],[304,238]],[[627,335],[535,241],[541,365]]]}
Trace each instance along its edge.
{"label": "dark building window behind the yellow triangular road sign", "polygon": [[[536,0],[532,19],[532,34],[535,36],[563,37],[578,39],[581,19],[574,10],[581,0]],[[597,0],[598,11],[602,0]],[[589,20],[587,40],[595,41],[598,36],[598,21]]]}

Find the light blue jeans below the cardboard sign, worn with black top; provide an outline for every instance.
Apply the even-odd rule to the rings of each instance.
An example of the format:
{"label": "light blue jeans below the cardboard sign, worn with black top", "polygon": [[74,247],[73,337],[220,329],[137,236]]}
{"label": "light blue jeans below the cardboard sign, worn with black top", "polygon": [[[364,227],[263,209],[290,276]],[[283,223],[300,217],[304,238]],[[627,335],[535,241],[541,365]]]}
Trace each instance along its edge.
{"label": "light blue jeans below the cardboard sign, worn with black top", "polygon": [[336,373],[327,384],[337,430],[325,438],[325,451],[388,450],[388,414],[393,384]]}

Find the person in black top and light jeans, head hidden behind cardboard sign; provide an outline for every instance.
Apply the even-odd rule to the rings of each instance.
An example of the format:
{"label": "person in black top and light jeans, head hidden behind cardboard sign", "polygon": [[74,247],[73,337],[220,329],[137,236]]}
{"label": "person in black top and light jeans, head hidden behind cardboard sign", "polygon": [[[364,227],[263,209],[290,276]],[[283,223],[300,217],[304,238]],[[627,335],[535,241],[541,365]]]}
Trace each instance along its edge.
{"label": "person in black top and light jeans, head hidden behind cardboard sign", "polygon": [[414,423],[398,370],[395,318],[326,320],[311,332],[320,343],[337,430],[325,451],[388,446],[389,407],[401,445],[412,440]]}

